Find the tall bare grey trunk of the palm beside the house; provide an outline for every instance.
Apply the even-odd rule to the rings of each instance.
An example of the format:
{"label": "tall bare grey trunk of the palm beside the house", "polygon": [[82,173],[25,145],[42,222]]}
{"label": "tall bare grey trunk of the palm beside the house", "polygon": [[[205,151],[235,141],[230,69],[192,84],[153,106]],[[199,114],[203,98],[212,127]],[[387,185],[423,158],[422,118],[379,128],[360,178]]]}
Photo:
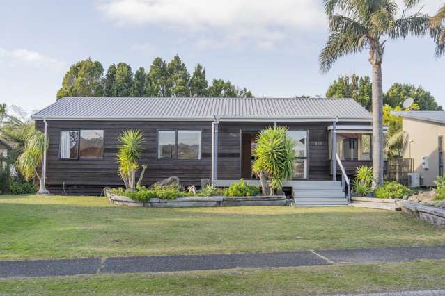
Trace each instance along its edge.
{"label": "tall bare grey trunk of the palm beside the house", "polygon": [[373,189],[383,185],[382,64],[373,64]]}

